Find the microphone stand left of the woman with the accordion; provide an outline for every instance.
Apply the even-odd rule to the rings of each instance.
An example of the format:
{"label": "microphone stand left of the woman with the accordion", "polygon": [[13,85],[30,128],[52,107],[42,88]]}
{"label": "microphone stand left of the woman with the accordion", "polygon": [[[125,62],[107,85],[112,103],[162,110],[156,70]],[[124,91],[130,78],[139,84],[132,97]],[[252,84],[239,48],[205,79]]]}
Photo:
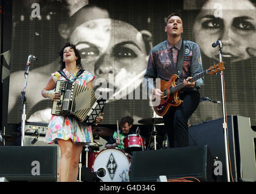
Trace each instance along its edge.
{"label": "microphone stand left of the woman with the accordion", "polygon": [[24,136],[25,136],[25,122],[26,122],[26,87],[27,87],[27,78],[29,76],[29,65],[31,62],[31,58],[33,58],[34,61],[36,61],[35,56],[29,55],[27,58],[27,64],[26,64],[26,70],[24,73],[25,76],[25,82],[24,82],[24,88],[21,92],[21,106],[20,110],[22,111],[21,116],[21,146],[24,146]]}

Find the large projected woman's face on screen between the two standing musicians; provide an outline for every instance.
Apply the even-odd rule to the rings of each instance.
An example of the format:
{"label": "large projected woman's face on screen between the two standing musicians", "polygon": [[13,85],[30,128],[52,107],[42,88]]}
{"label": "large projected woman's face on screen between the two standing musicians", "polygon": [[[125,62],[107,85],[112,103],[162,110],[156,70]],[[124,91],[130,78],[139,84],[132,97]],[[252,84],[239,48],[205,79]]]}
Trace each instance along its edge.
{"label": "large projected woman's face on screen between the two standing musicians", "polygon": [[110,92],[129,82],[134,82],[136,88],[142,81],[147,52],[142,33],[133,25],[114,19],[95,19],[78,26],[70,40],[77,45],[85,69],[105,79],[111,85]]}

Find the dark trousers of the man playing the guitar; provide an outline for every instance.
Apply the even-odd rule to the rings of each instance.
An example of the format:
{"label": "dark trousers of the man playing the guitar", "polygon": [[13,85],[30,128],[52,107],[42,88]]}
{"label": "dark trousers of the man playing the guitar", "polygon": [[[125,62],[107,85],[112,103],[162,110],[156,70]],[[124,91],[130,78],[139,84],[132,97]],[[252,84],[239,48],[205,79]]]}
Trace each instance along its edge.
{"label": "dark trousers of the man playing the guitar", "polygon": [[187,122],[198,107],[200,94],[195,90],[185,91],[179,98],[183,100],[183,103],[178,107],[170,107],[168,113],[163,116],[170,148],[189,146]]}

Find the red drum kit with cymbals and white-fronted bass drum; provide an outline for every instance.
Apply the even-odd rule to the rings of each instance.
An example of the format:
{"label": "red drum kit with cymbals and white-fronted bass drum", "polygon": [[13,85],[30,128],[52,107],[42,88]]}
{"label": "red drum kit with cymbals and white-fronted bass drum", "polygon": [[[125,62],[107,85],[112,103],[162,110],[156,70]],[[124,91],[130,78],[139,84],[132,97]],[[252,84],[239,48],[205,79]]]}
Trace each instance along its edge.
{"label": "red drum kit with cymbals and white-fronted bass drum", "polygon": [[[163,123],[162,118],[141,119],[140,124],[153,125],[154,132],[154,149],[156,149],[156,128],[155,124]],[[138,129],[138,128],[137,128]],[[137,130],[136,130],[137,132]],[[113,134],[112,129],[107,127],[92,128],[94,136],[105,138]],[[143,136],[139,133],[131,134],[123,139],[125,149],[105,148],[99,151],[99,147],[103,146],[98,143],[92,143],[85,146],[85,167],[103,182],[121,182],[123,172],[130,172],[131,159],[133,152],[145,151],[146,143]],[[81,162],[81,157],[80,157]],[[127,176],[127,175],[126,175]],[[81,180],[80,180],[81,181]]]}

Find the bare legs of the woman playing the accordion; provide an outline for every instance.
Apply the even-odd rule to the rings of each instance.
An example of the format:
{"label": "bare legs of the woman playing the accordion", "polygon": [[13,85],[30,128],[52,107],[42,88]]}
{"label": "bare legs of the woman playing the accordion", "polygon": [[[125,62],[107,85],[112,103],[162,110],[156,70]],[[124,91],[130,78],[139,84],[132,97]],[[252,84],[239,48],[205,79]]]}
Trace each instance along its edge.
{"label": "bare legs of the woman playing the accordion", "polygon": [[58,167],[60,182],[75,182],[77,181],[78,163],[83,146],[75,146],[71,139],[58,139],[58,145],[61,151],[60,164]]}

